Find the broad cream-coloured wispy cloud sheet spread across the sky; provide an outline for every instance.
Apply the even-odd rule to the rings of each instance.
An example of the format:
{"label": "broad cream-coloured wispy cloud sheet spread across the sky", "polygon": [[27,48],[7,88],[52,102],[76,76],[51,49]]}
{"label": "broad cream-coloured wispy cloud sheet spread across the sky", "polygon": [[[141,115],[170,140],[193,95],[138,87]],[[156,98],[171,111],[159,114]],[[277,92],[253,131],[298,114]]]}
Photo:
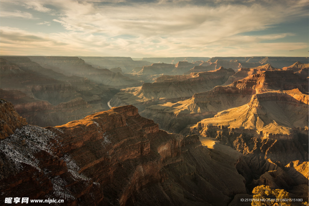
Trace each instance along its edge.
{"label": "broad cream-coloured wispy cloud sheet spread across the sky", "polygon": [[[65,44],[57,53],[62,55],[66,52],[73,56],[85,53],[88,56],[135,57],[247,56],[249,53],[278,56],[284,55],[282,51],[289,51],[291,48],[297,50],[308,47],[307,42],[284,41],[286,37],[295,36],[296,33],[266,32],[280,23],[308,16],[307,0],[27,1],[21,4],[49,15],[49,19],[42,19],[42,22],[36,24],[51,25],[53,21],[50,27],[58,25],[64,31],[52,34],[24,31],[28,34],[26,38],[25,33],[14,33],[6,28],[6,36],[1,36],[6,44],[8,41],[14,44],[16,39],[22,45],[21,40],[24,38],[29,40],[26,41],[28,43],[35,37],[43,38],[49,42],[44,47],[50,47],[50,51],[56,50],[57,44]],[[55,8],[58,15],[51,16],[51,8]],[[33,18],[30,13],[20,12],[28,14],[29,19]],[[248,32],[254,31],[265,32],[248,35]],[[282,42],[265,43],[272,40]],[[15,45],[17,48],[17,44]],[[35,43],[31,46],[34,48]]]}

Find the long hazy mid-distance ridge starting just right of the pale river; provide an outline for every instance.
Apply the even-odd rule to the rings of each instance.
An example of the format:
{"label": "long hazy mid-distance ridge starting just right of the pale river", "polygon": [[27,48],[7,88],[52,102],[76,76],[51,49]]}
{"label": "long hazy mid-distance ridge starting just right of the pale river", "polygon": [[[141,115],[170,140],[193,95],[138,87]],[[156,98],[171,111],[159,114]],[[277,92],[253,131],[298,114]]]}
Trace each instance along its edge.
{"label": "long hazy mid-distance ridge starting just right of the pale river", "polygon": [[[176,102],[187,99],[194,93],[207,91],[214,86],[221,85],[233,74],[233,69],[221,67],[213,72],[191,73],[187,76],[164,75],[154,83],[144,83],[142,87],[134,90],[132,88],[121,90],[110,103],[112,106],[132,104],[139,107],[141,104],[149,106],[159,102]],[[143,108],[139,107],[139,109]]]}

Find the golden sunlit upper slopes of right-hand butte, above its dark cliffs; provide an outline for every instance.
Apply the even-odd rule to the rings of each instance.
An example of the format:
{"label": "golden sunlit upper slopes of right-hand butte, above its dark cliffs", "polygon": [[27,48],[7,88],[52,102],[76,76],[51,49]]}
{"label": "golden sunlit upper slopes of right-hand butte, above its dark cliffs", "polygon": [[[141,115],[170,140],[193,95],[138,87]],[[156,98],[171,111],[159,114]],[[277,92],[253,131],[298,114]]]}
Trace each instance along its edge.
{"label": "golden sunlit upper slopes of right-hand butte, above its dark cliffs", "polygon": [[264,92],[252,95],[248,104],[218,112],[213,118],[202,120],[194,128],[221,125],[252,130],[254,132],[251,133],[262,137],[291,139],[294,130],[303,128],[306,132],[308,129],[308,116],[304,115],[306,111],[308,95],[298,89]]}

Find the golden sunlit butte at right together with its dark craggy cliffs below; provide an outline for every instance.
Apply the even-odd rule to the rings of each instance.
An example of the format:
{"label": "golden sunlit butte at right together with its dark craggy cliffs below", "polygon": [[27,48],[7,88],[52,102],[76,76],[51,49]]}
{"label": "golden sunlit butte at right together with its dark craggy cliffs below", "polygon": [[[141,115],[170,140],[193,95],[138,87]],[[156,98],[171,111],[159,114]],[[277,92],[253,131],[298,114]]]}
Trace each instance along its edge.
{"label": "golden sunlit butte at right together with its dark craggy cliffs below", "polygon": [[[252,176],[243,169],[239,173],[247,174],[249,188],[264,184],[296,190],[307,182],[301,182],[303,175],[286,165],[293,161],[308,164],[308,124],[308,95],[294,89],[253,95],[248,104],[220,111],[183,133],[215,138],[243,153]],[[307,172],[306,167],[303,170],[302,174]],[[292,181],[296,177],[299,182]]]}

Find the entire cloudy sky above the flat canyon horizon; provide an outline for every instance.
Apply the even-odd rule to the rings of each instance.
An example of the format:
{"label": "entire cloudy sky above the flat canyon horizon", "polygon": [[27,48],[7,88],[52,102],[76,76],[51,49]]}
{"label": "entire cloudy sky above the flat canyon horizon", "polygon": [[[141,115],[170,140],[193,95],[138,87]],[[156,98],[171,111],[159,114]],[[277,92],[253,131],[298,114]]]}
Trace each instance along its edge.
{"label": "entire cloudy sky above the flat canyon horizon", "polygon": [[1,55],[308,57],[309,0],[0,1]]}

